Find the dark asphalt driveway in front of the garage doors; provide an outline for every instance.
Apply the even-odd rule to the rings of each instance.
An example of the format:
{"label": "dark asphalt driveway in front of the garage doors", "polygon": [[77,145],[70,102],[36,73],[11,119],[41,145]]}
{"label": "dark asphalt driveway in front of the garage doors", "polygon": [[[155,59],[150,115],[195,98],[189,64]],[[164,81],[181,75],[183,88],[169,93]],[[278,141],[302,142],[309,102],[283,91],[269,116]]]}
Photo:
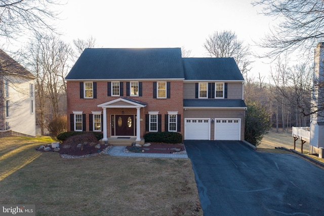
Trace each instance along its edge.
{"label": "dark asphalt driveway in front of the garage doors", "polygon": [[204,215],[324,215],[324,170],[241,141],[185,140]]}

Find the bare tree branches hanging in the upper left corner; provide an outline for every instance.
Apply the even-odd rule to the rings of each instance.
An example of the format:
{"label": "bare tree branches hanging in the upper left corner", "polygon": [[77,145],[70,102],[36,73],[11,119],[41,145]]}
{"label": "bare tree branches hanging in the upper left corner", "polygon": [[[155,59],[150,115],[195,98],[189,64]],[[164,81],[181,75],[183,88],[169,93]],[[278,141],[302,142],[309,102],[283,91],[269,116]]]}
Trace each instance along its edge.
{"label": "bare tree branches hanging in the upper left corner", "polygon": [[24,30],[53,31],[49,20],[58,15],[50,10],[54,5],[59,4],[55,0],[0,0],[0,36],[12,39]]}

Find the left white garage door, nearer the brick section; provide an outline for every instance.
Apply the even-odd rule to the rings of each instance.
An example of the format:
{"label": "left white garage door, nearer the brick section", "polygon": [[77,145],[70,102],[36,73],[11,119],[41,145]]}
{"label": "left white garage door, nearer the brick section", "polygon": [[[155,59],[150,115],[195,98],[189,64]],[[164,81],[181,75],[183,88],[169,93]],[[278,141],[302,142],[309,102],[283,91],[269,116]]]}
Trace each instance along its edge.
{"label": "left white garage door, nearer the brick section", "polygon": [[185,119],[184,139],[210,140],[210,119]]}

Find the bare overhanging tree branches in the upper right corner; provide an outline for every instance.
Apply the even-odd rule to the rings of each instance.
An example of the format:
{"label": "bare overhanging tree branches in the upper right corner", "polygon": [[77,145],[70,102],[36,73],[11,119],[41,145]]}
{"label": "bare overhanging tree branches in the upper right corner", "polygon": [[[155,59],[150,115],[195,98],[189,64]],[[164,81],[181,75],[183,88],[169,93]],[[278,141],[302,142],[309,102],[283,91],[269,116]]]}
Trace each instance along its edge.
{"label": "bare overhanging tree branches in the upper right corner", "polygon": [[262,6],[262,13],[280,22],[259,44],[271,48],[265,57],[274,57],[284,51],[293,52],[309,47],[324,39],[324,1],[322,0],[257,0],[254,6]]}

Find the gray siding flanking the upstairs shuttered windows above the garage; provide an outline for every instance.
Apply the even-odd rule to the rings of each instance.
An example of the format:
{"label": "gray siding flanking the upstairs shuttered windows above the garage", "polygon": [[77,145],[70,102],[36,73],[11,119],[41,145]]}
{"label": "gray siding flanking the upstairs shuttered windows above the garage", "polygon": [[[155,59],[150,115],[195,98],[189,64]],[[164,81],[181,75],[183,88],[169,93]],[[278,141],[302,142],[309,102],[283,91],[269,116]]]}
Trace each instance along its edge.
{"label": "gray siding flanking the upstairs shuttered windows above the garage", "polygon": [[[242,99],[242,83],[227,84],[227,99]],[[195,98],[195,83],[183,83],[183,99]]]}

